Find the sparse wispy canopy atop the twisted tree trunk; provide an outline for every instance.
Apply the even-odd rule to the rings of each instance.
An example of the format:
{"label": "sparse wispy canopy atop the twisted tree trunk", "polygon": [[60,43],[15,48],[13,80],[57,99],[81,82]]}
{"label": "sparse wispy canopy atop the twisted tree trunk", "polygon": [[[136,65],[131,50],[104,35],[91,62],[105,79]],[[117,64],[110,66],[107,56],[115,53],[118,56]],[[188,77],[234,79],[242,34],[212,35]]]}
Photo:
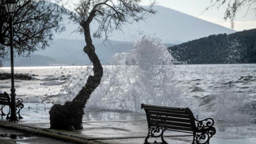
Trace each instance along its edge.
{"label": "sparse wispy canopy atop the twisted tree trunk", "polygon": [[[150,14],[155,13],[152,9],[155,0],[147,8],[140,6],[140,2],[141,0],[79,0],[75,10],[70,13],[70,19],[80,25],[83,21],[93,20],[98,27],[92,36],[108,40],[114,30],[122,31],[126,24],[145,21]],[[84,33],[84,28],[80,26],[76,32]]]}

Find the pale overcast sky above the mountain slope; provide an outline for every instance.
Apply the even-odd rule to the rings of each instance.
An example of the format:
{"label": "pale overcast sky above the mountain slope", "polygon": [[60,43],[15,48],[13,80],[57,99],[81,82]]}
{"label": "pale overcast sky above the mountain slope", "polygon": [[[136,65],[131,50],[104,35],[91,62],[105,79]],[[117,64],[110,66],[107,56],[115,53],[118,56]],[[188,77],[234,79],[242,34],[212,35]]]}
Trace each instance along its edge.
{"label": "pale overcast sky above the mountain slope", "polygon": [[[70,0],[66,0],[70,1]],[[76,3],[78,0],[72,0],[72,3]],[[150,0],[142,0],[142,5],[149,5]],[[204,19],[209,22],[213,22],[225,27],[230,28],[229,21],[223,19],[225,9],[212,9],[202,13],[206,7],[210,6],[210,0],[157,0],[157,5],[165,6],[201,19]],[[256,3],[254,6],[256,7]],[[248,30],[256,28],[256,16],[255,11],[251,10],[246,14],[246,8],[240,10],[237,13],[235,28],[236,31]]]}

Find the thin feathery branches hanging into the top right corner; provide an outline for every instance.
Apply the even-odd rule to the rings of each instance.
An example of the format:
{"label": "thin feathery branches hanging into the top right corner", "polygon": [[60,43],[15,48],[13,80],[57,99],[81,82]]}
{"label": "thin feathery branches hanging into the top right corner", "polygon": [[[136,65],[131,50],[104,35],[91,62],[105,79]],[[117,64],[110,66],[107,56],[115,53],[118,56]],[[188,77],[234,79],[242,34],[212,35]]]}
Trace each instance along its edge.
{"label": "thin feathery branches hanging into the top right corner", "polygon": [[245,7],[247,9],[245,15],[249,10],[256,12],[256,0],[211,0],[211,3],[212,5],[207,7],[206,10],[209,10],[211,7],[217,7],[219,9],[221,6],[225,6],[224,19],[230,20],[231,28],[234,28],[236,13],[241,8]]}

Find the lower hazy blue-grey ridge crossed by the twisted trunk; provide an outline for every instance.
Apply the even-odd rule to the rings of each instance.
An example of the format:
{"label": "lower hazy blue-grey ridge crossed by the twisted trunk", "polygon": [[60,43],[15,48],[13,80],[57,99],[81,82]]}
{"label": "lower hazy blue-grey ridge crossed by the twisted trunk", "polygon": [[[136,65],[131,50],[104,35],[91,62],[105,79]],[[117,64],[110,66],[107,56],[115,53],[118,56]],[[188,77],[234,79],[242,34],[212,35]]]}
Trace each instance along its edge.
{"label": "lower hazy blue-grey ridge crossed by the twisted trunk", "polygon": [[[66,65],[86,65],[90,63],[88,56],[83,52],[85,46],[84,40],[57,39],[54,44],[44,51],[36,54],[49,56],[58,59]],[[110,64],[110,59],[116,53],[128,52],[133,49],[133,43],[110,41],[110,44],[103,40],[94,39],[95,52],[103,65]]]}

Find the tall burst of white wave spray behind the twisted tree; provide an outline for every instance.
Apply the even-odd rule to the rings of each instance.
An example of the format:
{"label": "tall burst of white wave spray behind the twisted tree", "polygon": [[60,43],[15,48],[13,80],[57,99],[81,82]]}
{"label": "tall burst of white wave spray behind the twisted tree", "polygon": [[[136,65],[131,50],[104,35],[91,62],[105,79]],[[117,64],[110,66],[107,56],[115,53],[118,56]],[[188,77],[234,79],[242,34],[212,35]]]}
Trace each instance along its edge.
{"label": "tall burst of white wave spray behind the twisted tree", "polygon": [[[173,58],[157,39],[143,37],[130,53],[116,54],[113,66],[104,67],[101,84],[91,95],[87,109],[140,111],[140,104],[185,106],[174,85]],[[92,67],[63,86],[57,103],[70,101],[85,85]]]}

